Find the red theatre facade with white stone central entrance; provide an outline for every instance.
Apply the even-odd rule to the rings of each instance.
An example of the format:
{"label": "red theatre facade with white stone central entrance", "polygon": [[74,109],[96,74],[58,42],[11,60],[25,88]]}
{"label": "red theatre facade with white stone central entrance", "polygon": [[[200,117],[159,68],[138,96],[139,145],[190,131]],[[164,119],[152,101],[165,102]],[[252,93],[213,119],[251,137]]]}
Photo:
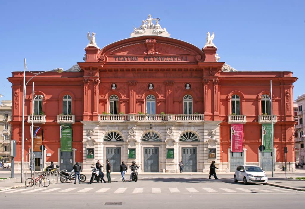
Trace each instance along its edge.
{"label": "red theatre facade with white stone central entrance", "polygon": [[[273,117],[274,169],[285,165],[284,147],[294,167],[292,84],[297,78],[292,72],[236,71],[218,61],[213,44],[200,49],[159,34],[102,49],[89,44],[85,51],[78,70],[46,72],[31,80],[35,95],[44,97],[35,100],[32,118],[32,87],[27,87],[24,155],[30,152],[33,120],[34,130],[41,128],[46,161],[61,168],[81,162],[89,170],[91,163],[110,159],[113,171],[133,160],[143,172],[178,172],[181,160],[185,172],[208,172],[213,160],[222,171],[234,171],[239,164],[271,170],[271,151],[262,155],[259,146]],[[32,76],[27,73],[26,80]],[[12,139],[19,151],[15,168],[20,168],[23,72],[8,79]],[[68,139],[65,128],[71,129]]]}

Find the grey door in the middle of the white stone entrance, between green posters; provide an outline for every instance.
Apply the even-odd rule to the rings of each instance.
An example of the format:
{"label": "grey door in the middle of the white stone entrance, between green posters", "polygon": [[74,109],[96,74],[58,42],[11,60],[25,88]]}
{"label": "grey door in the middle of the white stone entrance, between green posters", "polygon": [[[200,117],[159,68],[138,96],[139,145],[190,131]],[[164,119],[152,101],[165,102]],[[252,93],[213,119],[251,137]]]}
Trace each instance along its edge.
{"label": "grey door in the middle of the white stone entrance, between green posters", "polygon": [[144,172],[159,172],[159,148],[144,148]]}

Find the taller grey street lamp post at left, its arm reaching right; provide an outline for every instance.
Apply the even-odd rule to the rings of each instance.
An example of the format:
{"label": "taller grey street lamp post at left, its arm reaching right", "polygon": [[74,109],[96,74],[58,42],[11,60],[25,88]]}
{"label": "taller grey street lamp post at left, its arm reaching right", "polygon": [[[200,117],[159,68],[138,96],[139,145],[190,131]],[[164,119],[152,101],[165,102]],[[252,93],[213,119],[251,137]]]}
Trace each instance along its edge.
{"label": "taller grey street lamp post at left, its arm reaching right", "polygon": [[[30,73],[33,73],[35,74],[34,76],[32,76],[28,81],[27,83],[25,82],[25,68],[26,68],[26,62],[25,62],[25,58],[24,58],[24,71],[23,71],[23,99],[22,99],[22,138],[21,138],[21,183],[24,182],[24,172],[23,172],[23,163],[24,163],[24,105],[25,105],[25,96],[26,96],[26,87],[27,87],[27,84],[30,82],[30,80],[32,78],[34,78],[35,76],[37,75],[40,75],[41,73],[45,73],[45,72],[58,72],[58,73],[62,73],[63,72],[63,68],[56,68],[56,69],[53,69],[53,70],[49,70],[49,71],[42,71],[42,72],[39,72],[37,74],[33,73],[30,71]],[[34,97],[34,95],[33,95]],[[33,123],[33,117],[32,117],[32,123]],[[32,138],[33,138],[33,133],[32,134]],[[33,152],[33,139],[32,139],[32,152]]]}

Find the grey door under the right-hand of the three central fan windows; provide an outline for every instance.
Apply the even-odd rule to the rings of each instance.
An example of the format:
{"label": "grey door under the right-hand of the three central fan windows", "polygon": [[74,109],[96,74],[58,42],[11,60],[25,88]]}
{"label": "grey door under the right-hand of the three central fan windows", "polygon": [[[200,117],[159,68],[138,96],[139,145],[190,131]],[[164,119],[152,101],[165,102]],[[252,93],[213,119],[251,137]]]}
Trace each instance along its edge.
{"label": "grey door under the right-hand of the three central fan windows", "polygon": [[182,171],[197,172],[197,148],[182,148]]}

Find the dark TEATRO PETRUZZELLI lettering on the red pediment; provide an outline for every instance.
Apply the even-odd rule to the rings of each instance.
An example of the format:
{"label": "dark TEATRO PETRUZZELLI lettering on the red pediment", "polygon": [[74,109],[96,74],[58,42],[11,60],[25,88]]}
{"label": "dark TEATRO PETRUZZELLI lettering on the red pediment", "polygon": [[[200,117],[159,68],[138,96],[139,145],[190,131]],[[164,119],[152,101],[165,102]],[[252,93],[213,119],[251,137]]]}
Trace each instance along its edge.
{"label": "dark TEATRO PETRUZZELLI lettering on the red pediment", "polygon": [[147,57],[113,57],[114,61],[144,61],[144,62],[173,62],[173,61],[188,61],[188,57],[180,56],[180,57],[156,57],[156,56],[147,56]]}

